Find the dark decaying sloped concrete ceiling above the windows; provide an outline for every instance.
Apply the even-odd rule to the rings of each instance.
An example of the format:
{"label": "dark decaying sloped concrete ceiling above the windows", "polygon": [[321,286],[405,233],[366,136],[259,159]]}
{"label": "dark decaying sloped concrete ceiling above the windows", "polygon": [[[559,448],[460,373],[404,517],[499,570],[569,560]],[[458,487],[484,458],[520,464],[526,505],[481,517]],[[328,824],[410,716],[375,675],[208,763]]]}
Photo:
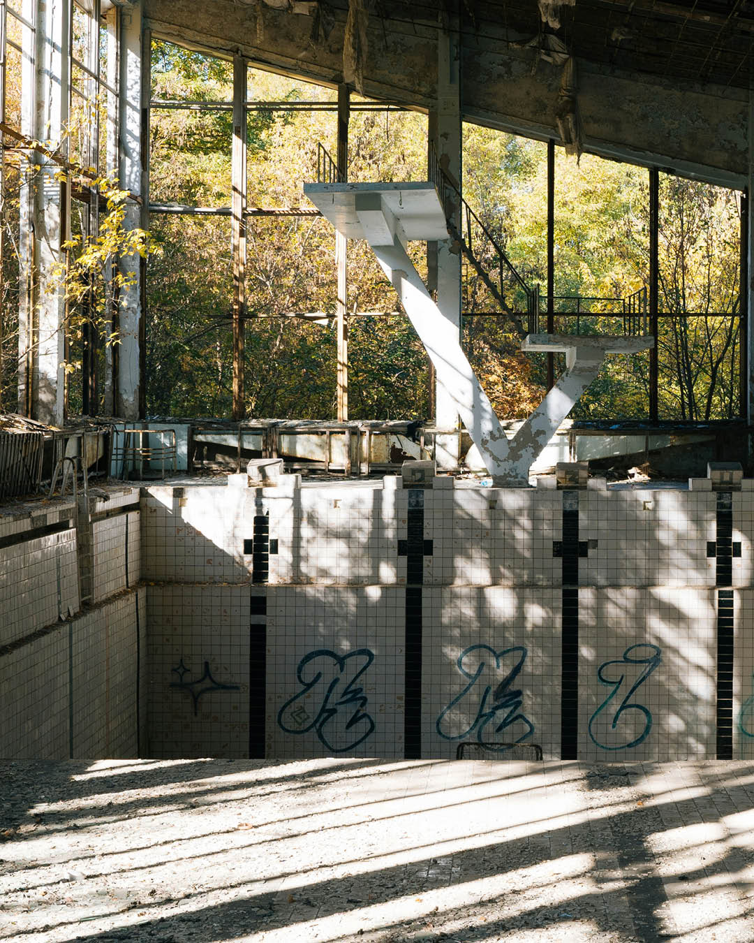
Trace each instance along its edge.
{"label": "dark decaying sloped concrete ceiling above the windows", "polygon": [[[559,141],[572,58],[585,151],[746,185],[754,0],[463,0],[455,21],[452,0],[365,2],[369,96],[431,107],[437,33],[450,22],[467,121]],[[145,13],[164,39],[343,80],[348,0],[145,0]]]}

